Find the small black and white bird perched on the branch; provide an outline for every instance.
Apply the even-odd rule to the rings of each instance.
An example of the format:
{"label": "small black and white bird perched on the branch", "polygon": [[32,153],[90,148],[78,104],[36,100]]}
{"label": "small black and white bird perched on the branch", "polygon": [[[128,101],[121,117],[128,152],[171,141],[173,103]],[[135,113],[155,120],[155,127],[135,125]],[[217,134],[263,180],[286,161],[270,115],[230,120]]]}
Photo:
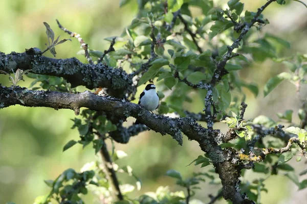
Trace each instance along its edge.
{"label": "small black and white bird perched on the branch", "polygon": [[[148,84],[140,95],[139,105],[143,106],[148,111],[156,110],[159,106],[159,95],[156,92],[156,86]],[[135,124],[140,124],[136,120]]]}

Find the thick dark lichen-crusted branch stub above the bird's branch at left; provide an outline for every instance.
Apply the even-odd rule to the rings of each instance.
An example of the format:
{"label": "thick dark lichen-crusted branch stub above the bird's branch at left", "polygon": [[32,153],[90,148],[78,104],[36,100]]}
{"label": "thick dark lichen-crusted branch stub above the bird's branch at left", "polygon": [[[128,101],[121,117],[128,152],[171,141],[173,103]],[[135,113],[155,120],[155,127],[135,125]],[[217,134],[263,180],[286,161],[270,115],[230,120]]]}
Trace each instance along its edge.
{"label": "thick dark lichen-crusted branch stub above the bird's branch at left", "polygon": [[[72,87],[85,86],[93,89],[105,87],[116,90],[116,95],[122,97],[122,93],[131,86],[132,77],[123,69],[107,67],[103,64],[83,64],[76,58],[53,59],[41,56],[35,49],[29,49],[25,53],[0,53],[0,70],[8,73],[17,68],[36,74],[62,77],[71,83]],[[0,72],[1,73],[1,72]]]}

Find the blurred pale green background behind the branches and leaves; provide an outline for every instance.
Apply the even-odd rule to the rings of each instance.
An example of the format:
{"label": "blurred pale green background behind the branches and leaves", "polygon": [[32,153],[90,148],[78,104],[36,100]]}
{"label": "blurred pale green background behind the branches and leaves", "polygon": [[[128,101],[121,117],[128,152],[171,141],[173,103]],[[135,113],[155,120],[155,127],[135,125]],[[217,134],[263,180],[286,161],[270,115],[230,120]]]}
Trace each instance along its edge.
{"label": "blurred pale green background behind the branches and leaves", "polygon": [[[119,8],[119,0],[2,0],[0,1],[0,52],[24,52],[26,48],[39,47],[45,49],[47,42],[45,27],[42,22],[48,22],[56,36],[69,38],[56,24],[58,19],[63,27],[77,32],[90,45],[91,49],[104,50],[108,47],[105,37],[119,36],[123,29],[129,25],[137,14],[137,1],[132,0],[123,8]],[[227,1],[214,1],[215,5],[226,8]],[[266,1],[242,1],[248,10],[256,11]],[[305,2],[305,1],[303,1]],[[306,3],[306,2],[305,2]],[[297,52],[305,53],[307,47],[307,9],[301,4],[291,3],[286,6],[272,4],[264,12],[269,19],[263,32],[270,32],[291,42],[289,50],[280,49],[278,55],[287,56]],[[56,47],[57,58],[77,57],[86,62],[83,56],[76,55],[80,50],[76,39],[65,42]],[[52,57],[50,53],[46,54]],[[277,119],[276,113],[287,109],[294,109],[294,121],[298,121],[297,110],[300,102],[295,95],[295,87],[290,83],[283,83],[272,94],[264,98],[262,90],[264,84],[274,74],[286,70],[282,64],[270,60],[264,63],[253,63],[248,69],[240,71],[240,76],[248,82],[259,85],[259,95],[255,98],[246,91],[249,105],[246,118],[258,115],[267,115]],[[0,83],[10,86],[8,77],[0,75]],[[19,86],[28,86],[32,79],[25,78]],[[140,87],[140,90],[143,87]],[[79,90],[84,88],[79,87]],[[303,87],[302,95],[306,96]],[[202,101],[195,93],[193,106],[186,104],[188,110],[199,112],[203,109]],[[81,145],[75,145],[68,151],[62,152],[62,147],[69,140],[78,140],[78,131],[72,130],[76,117],[71,110],[58,110],[48,108],[25,108],[20,106],[0,110],[0,203],[13,201],[18,204],[33,203],[35,197],[49,192],[49,187],[43,180],[55,179],[67,168],[77,171],[87,162],[99,160],[94,156],[94,149],[87,146],[82,150]],[[132,123],[130,119],[128,123]],[[216,124],[217,128],[226,130],[225,124]],[[109,145],[110,146],[110,145]],[[126,160],[119,161],[119,165],[130,165],[143,182],[141,191],[131,193],[137,196],[147,191],[156,191],[159,186],[170,186],[173,190],[183,190],[174,185],[174,180],[165,176],[168,169],[180,171],[183,177],[188,177],[193,171],[206,171],[188,165],[192,160],[202,154],[198,144],[194,141],[184,140],[179,146],[169,136],[162,137],[152,131],[145,132],[130,139],[128,144],[116,144],[128,154]],[[296,173],[304,165],[292,162],[296,166]],[[305,165],[306,166],[306,165]],[[251,181],[253,177],[262,176],[248,171],[244,179]],[[121,182],[134,183],[127,176],[119,175]],[[263,203],[299,203],[298,200],[306,198],[307,189],[297,191],[286,177],[282,175],[270,176],[266,182],[269,193],[262,193]],[[195,198],[209,201],[208,194],[216,194],[220,185],[201,185]],[[85,197],[86,203],[94,203],[93,196]],[[221,201],[220,203],[225,203]],[[300,202],[301,203],[301,202]]]}

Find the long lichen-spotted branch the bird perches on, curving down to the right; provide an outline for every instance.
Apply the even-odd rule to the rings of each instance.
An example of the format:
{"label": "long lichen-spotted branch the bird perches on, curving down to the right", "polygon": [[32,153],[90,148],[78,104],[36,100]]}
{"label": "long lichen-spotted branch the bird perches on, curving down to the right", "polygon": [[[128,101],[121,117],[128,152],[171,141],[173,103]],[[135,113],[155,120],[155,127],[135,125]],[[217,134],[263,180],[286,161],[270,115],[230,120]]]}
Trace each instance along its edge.
{"label": "long lichen-spotted branch the bird perches on, curving down to the right", "polygon": [[132,116],[153,131],[162,135],[171,135],[179,144],[182,144],[181,132],[183,132],[190,140],[196,140],[201,149],[208,153],[216,172],[222,180],[224,198],[231,199],[233,203],[242,203],[243,201],[235,187],[240,175],[240,169],[227,160],[227,152],[217,145],[217,141],[223,138],[223,134],[218,130],[209,131],[191,118],[169,118],[151,114],[137,104],[113,97],[97,96],[89,91],[70,94],[56,91],[32,91],[20,87],[14,87],[14,91],[14,94],[11,95],[12,88],[0,86],[0,107],[5,108],[18,104],[27,107],[72,109],[76,114],[79,113],[81,107],[85,107],[113,114],[118,118],[122,118],[122,120]]}

